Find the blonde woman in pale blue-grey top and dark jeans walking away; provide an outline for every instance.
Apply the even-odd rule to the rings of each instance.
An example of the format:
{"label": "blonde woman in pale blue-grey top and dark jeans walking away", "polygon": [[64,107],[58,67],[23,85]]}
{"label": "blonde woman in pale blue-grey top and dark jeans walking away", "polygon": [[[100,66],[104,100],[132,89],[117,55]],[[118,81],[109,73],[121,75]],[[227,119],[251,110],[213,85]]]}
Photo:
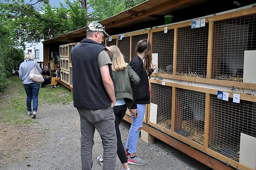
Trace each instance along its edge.
{"label": "blonde woman in pale blue-grey top and dark jeans walking away", "polygon": [[[28,115],[32,115],[32,118],[35,118],[37,114],[37,105],[38,105],[38,92],[40,85],[39,83],[35,83],[29,79],[29,72],[34,67],[37,67],[39,73],[42,72],[41,68],[39,67],[38,63],[35,61],[35,57],[31,52],[28,52],[24,57],[24,62],[20,64],[19,69],[19,76],[22,80],[24,85],[26,94],[27,94],[27,108],[28,108]],[[33,113],[31,109],[31,101],[33,99]]]}

